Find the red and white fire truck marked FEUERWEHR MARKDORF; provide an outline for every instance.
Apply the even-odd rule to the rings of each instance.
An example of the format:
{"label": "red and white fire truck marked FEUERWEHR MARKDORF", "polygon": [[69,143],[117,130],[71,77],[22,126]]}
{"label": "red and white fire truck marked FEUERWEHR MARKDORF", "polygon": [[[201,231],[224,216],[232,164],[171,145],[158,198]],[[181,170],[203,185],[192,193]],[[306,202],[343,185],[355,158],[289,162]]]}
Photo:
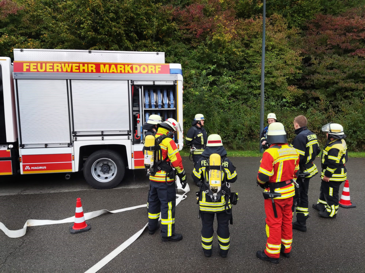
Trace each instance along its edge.
{"label": "red and white fire truck marked FEUERWEHR MARKDORF", "polygon": [[[14,49],[0,57],[0,175],[83,171],[97,189],[144,169],[149,115],[183,126],[180,64],[164,52]],[[183,134],[174,141],[183,148]]]}

